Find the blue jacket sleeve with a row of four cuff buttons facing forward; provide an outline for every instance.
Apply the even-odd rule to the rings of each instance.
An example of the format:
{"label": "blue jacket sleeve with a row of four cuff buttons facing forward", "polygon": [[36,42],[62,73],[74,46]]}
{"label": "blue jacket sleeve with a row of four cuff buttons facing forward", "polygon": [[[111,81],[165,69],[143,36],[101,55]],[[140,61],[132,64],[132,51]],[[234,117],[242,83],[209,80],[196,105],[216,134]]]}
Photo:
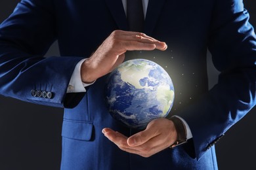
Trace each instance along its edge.
{"label": "blue jacket sleeve with a row of four cuff buttons facing forward", "polygon": [[[55,30],[53,1],[18,3],[11,16],[0,25],[1,94],[41,105],[64,106],[68,82],[81,58],[43,58],[56,41]],[[52,97],[34,97],[32,90],[51,92]]]}

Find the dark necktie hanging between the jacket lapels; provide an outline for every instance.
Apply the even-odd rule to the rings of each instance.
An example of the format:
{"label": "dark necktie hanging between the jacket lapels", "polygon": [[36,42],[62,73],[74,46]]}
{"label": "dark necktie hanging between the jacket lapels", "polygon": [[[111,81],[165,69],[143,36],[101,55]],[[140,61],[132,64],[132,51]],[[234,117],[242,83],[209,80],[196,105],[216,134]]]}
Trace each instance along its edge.
{"label": "dark necktie hanging between the jacket lapels", "polygon": [[127,21],[129,31],[143,31],[144,13],[142,0],[127,0]]}

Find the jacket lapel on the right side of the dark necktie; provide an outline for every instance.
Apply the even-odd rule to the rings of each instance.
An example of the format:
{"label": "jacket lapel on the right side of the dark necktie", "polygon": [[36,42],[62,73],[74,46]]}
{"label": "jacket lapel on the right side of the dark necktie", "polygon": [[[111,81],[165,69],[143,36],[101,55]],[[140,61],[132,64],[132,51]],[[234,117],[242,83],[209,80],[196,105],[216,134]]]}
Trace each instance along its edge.
{"label": "jacket lapel on the right side of the dark necktie", "polygon": [[[129,0],[127,0],[129,1]],[[144,33],[151,35],[158,22],[165,0],[149,0],[144,24]]]}

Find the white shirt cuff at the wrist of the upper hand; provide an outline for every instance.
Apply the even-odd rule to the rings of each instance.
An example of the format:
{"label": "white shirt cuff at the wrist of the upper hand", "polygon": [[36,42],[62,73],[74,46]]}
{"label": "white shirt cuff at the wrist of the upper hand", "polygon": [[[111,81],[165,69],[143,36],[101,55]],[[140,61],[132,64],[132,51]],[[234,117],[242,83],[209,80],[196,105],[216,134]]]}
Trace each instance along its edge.
{"label": "white shirt cuff at the wrist of the upper hand", "polygon": [[[87,58],[85,58],[87,59]],[[70,78],[70,83],[68,84],[67,93],[79,93],[79,92],[86,92],[85,87],[90,86],[94,82],[90,84],[86,84],[81,80],[81,65],[85,59],[81,59],[77,65],[75,65],[75,69],[72,73]]]}

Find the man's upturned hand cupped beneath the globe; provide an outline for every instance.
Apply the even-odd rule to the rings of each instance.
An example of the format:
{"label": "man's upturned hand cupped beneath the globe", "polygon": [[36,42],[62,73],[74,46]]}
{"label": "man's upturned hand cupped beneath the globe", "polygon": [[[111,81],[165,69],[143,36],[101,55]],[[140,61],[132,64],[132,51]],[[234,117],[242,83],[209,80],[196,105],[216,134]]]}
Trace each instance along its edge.
{"label": "man's upturned hand cupped beneath the globe", "polygon": [[177,141],[175,126],[166,118],[152,120],[144,131],[129,138],[110,128],[102,129],[102,133],[121,150],[143,157],[152,156]]}

